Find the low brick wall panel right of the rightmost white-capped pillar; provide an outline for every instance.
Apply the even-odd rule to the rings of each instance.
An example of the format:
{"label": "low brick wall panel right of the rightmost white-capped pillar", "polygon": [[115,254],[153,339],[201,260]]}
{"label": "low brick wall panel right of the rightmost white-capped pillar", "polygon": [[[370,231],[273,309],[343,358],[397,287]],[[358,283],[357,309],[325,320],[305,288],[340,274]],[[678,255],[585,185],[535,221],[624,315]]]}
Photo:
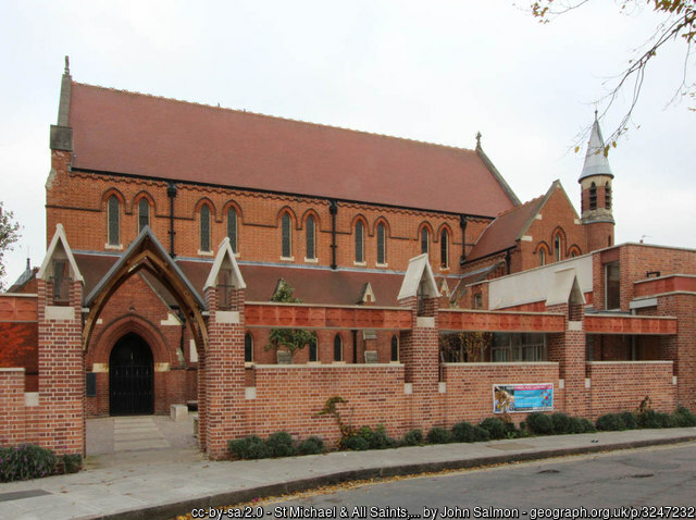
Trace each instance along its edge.
{"label": "low brick wall panel right of the rightmost white-capped pillar", "polygon": [[588,361],[589,418],[635,410],[647,395],[651,408],[671,413],[676,407],[672,361]]}

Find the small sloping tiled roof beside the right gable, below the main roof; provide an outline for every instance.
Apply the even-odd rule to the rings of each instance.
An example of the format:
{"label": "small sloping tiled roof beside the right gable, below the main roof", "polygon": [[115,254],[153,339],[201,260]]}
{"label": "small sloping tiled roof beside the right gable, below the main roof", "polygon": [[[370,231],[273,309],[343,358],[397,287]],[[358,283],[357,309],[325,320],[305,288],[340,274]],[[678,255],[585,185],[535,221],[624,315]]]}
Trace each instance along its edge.
{"label": "small sloping tiled roof beside the right gable, below the main roof", "polygon": [[478,242],[467,256],[467,261],[477,260],[487,255],[514,247],[520,233],[540,210],[545,199],[546,196],[537,197],[498,215],[484,230]]}

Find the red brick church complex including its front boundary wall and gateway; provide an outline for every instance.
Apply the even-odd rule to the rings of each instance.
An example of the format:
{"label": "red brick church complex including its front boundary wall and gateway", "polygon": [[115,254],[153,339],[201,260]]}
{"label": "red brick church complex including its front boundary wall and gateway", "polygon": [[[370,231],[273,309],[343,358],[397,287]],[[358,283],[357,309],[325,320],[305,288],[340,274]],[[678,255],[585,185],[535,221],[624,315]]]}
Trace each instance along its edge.
{"label": "red brick church complex including its front boundary wall and gateway", "polygon": [[[0,295],[0,444],[63,424],[84,453],[85,417],[197,401],[220,457],[247,434],[335,437],[315,418],[334,395],[398,435],[478,421],[515,384],[584,417],[645,395],[696,409],[696,251],[614,245],[597,121],[580,215],[558,181],[522,203],[480,136],[433,145],[67,66],[50,129],[47,256]],[[299,302],[272,301],[283,284]],[[313,338],[269,349],[282,327]]]}

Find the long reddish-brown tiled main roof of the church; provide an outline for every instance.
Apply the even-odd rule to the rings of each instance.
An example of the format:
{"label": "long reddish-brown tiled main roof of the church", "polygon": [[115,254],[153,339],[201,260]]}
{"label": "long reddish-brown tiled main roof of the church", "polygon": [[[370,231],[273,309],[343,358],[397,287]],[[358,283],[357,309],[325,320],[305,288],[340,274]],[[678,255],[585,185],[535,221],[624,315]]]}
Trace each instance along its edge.
{"label": "long reddish-brown tiled main roof of the church", "polygon": [[496,215],[513,206],[474,150],[74,83],[74,168]]}

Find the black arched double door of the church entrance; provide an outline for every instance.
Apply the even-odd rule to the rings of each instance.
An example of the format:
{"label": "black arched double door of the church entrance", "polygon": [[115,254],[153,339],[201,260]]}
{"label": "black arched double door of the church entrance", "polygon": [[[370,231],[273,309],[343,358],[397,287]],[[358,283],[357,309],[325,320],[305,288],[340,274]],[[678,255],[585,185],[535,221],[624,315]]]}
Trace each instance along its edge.
{"label": "black arched double door of the church entrance", "polygon": [[150,414],[154,411],[152,350],[136,333],[122,336],[109,356],[109,413]]}

